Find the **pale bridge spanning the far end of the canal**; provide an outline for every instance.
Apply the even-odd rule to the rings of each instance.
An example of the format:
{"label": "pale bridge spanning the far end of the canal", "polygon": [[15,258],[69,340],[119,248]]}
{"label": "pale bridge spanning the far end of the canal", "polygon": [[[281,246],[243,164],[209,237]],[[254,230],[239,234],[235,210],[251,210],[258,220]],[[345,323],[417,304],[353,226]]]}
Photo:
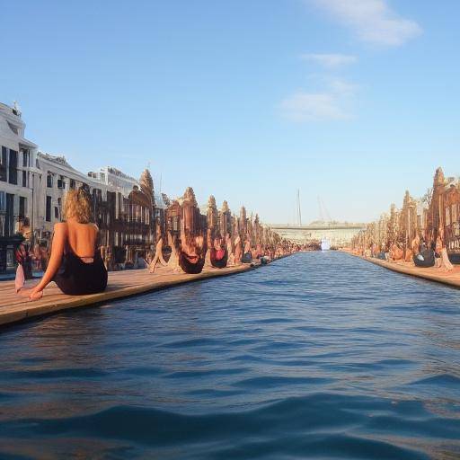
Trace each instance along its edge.
{"label": "pale bridge spanning the far end of the canal", "polygon": [[283,238],[297,243],[309,243],[327,238],[332,245],[343,246],[359,231],[366,228],[366,224],[350,224],[348,222],[313,222],[309,226],[289,226],[282,224],[271,225],[274,231]]}

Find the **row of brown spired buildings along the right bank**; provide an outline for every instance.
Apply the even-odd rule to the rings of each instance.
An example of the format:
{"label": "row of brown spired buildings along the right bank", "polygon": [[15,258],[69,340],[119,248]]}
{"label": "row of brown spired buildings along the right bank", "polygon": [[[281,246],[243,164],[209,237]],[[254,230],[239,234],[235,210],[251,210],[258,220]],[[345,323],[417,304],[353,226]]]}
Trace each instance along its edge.
{"label": "row of brown spired buildings along the right bank", "polygon": [[416,236],[426,243],[440,238],[450,260],[460,261],[460,180],[446,177],[441,168],[423,197],[414,199],[406,191],[402,207],[393,204],[390,212],[355,236],[352,247],[359,252],[373,247],[388,251],[395,245],[405,254]]}

